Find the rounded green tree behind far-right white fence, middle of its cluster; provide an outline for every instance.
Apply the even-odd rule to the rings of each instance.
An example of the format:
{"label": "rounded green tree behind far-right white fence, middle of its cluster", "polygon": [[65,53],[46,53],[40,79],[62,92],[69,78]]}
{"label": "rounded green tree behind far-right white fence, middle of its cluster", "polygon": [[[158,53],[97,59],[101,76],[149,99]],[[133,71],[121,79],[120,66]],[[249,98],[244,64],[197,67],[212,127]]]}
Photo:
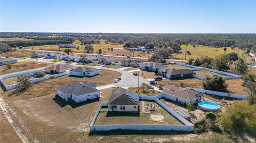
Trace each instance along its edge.
{"label": "rounded green tree behind far-right white fence, middle of its cluster", "polygon": [[228,55],[220,55],[213,60],[213,69],[227,71],[230,69],[229,62]]}

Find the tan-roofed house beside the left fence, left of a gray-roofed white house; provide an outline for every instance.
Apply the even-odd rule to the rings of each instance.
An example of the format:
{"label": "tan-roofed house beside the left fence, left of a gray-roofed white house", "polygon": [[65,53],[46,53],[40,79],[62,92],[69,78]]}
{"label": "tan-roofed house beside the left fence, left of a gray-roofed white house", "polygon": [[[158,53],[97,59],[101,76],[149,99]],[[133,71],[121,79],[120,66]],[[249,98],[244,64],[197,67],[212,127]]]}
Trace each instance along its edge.
{"label": "tan-roofed house beside the left fence, left of a gray-roofed white house", "polygon": [[48,68],[45,68],[45,73],[51,73],[51,74],[58,74],[66,72],[67,70],[73,69],[74,67],[69,64],[55,64],[53,66],[50,66]]}

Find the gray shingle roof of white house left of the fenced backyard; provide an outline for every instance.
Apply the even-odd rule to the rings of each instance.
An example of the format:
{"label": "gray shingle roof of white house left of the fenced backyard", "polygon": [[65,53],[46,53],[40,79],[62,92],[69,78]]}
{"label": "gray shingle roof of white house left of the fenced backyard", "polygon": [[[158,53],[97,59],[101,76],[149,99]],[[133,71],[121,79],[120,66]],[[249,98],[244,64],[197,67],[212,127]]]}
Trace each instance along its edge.
{"label": "gray shingle roof of white house left of the fenced backyard", "polygon": [[95,89],[95,87],[96,86],[93,82],[75,82],[59,87],[58,90],[60,90],[63,94],[73,94],[75,96],[79,96],[100,91]]}

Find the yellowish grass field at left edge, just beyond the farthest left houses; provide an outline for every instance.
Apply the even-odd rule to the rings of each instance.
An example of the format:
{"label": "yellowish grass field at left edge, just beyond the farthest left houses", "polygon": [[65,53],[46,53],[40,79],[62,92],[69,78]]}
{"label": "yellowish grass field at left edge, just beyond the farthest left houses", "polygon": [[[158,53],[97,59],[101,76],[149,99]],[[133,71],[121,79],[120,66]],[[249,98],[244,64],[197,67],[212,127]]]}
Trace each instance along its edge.
{"label": "yellowish grass field at left edge, just beyond the farthest left houses", "polygon": [[14,52],[2,53],[0,56],[6,57],[16,57],[16,58],[29,58],[31,54],[34,54],[34,51],[24,51],[24,50],[17,50]]}

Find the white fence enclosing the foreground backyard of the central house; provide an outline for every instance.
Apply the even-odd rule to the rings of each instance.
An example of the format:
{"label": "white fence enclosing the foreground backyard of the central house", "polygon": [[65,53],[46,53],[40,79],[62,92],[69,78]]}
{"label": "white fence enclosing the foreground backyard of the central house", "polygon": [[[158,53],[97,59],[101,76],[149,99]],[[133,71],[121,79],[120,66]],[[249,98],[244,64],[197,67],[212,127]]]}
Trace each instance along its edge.
{"label": "white fence enclosing the foreground backyard of the central house", "polygon": [[172,110],[169,106],[165,105],[158,98],[162,98],[163,95],[146,96],[141,95],[143,100],[154,100],[157,104],[162,106],[167,112],[177,117],[185,125],[160,125],[160,124],[112,124],[112,125],[94,125],[97,116],[102,106],[107,106],[107,102],[102,102],[95,113],[92,123],[90,125],[90,131],[110,131],[110,130],[158,130],[158,131],[193,131],[194,124],[188,122],[185,118]]}

